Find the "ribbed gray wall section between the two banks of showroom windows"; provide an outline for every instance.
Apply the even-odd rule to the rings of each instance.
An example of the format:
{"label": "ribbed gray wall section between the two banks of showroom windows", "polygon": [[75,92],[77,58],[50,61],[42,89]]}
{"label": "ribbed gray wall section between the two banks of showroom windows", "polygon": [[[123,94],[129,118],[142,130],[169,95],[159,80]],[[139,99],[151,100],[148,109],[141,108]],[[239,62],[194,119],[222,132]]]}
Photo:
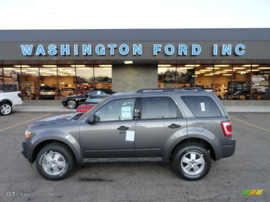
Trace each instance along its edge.
{"label": "ribbed gray wall section between the two banks of showroom windows", "polygon": [[132,92],[141,88],[157,88],[156,65],[116,65],[112,68],[112,85],[116,92]]}

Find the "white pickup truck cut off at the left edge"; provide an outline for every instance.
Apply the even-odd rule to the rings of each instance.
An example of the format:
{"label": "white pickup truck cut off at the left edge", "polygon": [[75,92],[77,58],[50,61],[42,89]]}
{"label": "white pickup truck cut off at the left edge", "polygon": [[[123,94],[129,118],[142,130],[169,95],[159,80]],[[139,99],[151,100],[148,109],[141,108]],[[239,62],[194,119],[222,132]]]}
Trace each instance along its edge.
{"label": "white pickup truck cut off at the left edge", "polygon": [[0,90],[0,115],[10,114],[12,106],[21,104],[23,104],[21,91]]}

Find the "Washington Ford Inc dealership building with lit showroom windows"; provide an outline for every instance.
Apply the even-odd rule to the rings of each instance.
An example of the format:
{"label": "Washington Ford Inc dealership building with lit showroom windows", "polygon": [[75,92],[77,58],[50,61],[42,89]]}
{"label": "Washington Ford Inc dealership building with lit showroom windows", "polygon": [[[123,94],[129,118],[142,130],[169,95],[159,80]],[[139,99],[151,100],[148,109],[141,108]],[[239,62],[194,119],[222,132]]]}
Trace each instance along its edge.
{"label": "Washington Ford Inc dealership building with lit showroom windows", "polygon": [[0,89],[21,90],[24,100],[42,99],[44,86],[201,86],[226,100],[263,101],[269,69],[270,28],[0,30]]}

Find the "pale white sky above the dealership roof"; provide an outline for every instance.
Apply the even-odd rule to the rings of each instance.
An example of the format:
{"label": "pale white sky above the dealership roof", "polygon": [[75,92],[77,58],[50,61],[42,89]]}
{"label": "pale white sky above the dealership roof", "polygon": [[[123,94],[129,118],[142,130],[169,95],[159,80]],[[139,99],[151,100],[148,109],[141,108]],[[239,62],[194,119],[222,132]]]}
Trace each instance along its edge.
{"label": "pale white sky above the dealership roof", "polygon": [[270,28],[270,0],[0,0],[0,29]]}

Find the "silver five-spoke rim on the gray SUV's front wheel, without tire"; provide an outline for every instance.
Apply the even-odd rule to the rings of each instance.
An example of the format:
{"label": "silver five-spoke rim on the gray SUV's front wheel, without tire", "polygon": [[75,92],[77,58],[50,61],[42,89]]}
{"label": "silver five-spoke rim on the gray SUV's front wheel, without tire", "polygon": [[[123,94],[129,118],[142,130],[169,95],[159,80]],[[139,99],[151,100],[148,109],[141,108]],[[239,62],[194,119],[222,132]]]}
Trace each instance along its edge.
{"label": "silver five-spoke rim on the gray SUV's front wheel, without tire", "polygon": [[49,175],[59,175],[66,168],[65,158],[58,152],[49,152],[43,156],[42,168]]}

